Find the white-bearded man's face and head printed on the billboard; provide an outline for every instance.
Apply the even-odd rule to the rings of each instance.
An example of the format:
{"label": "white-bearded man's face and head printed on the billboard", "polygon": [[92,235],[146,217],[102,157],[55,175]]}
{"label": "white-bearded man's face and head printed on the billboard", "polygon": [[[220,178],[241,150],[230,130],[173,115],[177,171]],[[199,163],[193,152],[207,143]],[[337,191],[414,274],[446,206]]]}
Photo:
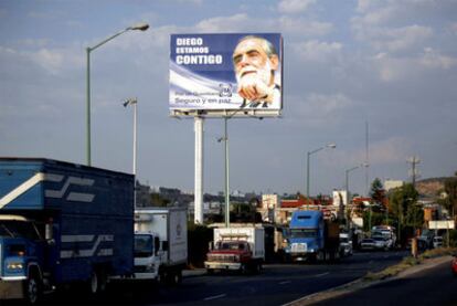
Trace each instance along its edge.
{"label": "white-bearded man's face and head printed on the billboard", "polygon": [[266,85],[272,85],[272,71],[277,70],[278,61],[276,55],[268,57],[263,40],[247,39],[240,42],[233,52],[233,64],[238,83],[243,78],[255,77]]}

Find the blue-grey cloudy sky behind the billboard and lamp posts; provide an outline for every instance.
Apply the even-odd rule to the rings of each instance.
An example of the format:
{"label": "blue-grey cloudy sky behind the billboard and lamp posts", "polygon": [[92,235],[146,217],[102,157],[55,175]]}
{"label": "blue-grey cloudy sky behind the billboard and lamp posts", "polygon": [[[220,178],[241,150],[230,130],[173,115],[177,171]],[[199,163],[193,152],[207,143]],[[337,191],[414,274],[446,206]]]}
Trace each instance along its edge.
{"label": "blue-grey cloudy sky behind the billboard and lamp posts", "polygon": [[[169,112],[170,34],[281,33],[279,118],[228,120],[230,188],[242,192],[343,188],[374,178],[457,171],[457,0],[2,0],[0,156],[86,163],[86,48],[92,165],[193,191],[193,119]],[[368,129],[366,129],[368,126]],[[368,130],[368,141],[366,141]],[[204,122],[204,192],[224,188],[224,120]],[[368,144],[368,146],[366,146]],[[366,178],[369,180],[366,180]]]}

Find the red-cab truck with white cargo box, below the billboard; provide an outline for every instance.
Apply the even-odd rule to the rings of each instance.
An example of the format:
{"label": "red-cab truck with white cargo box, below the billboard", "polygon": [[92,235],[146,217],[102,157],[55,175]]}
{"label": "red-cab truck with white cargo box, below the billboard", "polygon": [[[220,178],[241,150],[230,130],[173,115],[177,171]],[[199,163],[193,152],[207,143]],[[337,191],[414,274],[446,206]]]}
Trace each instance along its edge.
{"label": "red-cab truck with white cargo box, below the billboard", "polygon": [[265,261],[265,232],[261,226],[216,228],[204,267],[214,271],[258,273]]}

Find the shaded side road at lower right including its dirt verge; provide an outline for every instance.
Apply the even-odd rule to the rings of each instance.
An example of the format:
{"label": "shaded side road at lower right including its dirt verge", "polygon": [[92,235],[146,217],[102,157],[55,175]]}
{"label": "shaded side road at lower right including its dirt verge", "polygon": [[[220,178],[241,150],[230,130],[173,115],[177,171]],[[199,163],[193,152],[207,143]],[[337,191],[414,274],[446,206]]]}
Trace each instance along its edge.
{"label": "shaded side road at lower right including its dirt verge", "polygon": [[427,260],[390,279],[354,282],[305,297],[291,305],[457,305],[457,277],[450,256]]}

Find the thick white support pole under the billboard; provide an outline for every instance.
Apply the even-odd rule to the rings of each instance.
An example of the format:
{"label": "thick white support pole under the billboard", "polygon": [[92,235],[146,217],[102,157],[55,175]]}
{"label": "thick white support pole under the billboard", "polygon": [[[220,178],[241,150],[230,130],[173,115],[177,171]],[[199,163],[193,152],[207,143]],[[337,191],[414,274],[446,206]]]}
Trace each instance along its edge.
{"label": "thick white support pole under the billboard", "polygon": [[194,223],[203,224],[203,118],[194,117],[195,131],[195,186]]}

